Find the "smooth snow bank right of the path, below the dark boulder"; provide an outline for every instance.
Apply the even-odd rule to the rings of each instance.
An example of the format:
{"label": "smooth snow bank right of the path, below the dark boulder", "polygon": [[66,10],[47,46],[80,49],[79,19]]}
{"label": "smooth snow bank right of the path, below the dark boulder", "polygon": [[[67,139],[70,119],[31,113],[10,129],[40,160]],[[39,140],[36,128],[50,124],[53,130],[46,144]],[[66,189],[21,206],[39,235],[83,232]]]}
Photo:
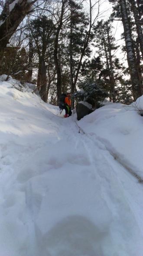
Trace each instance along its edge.
{"label": "smooth snow bank right of the path, below the dark boulder", "polygon": [[92,138],[104,143],[110,153],[129,171],[143,179],[143,96],[130,106],[109,103],[78,124]]}

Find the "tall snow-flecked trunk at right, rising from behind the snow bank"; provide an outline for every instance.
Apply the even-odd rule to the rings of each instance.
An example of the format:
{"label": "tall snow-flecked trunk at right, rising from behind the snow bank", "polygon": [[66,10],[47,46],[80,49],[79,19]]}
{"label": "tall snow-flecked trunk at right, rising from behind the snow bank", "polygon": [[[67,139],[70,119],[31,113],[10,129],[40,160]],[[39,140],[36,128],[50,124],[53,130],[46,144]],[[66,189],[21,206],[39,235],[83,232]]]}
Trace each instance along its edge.
{"label": "tall snow-flecked trunk at right, rising from behind the snow bank", "polygon": [[119,0],[119,3],[120,3],[120,11],[121,11],[121,17],[123,22],[124,37],[125,37],[126,51],[127,51],[127,62],[128,62],[129,71],[130,71],[133,98],[134,100],[136,100],[138,97],[142,95],[141,82],[140,82],[138,70],[136,67],[136,56],[135,56],[135,51],[133,47],[130,21],[127,14],[126,0]]}

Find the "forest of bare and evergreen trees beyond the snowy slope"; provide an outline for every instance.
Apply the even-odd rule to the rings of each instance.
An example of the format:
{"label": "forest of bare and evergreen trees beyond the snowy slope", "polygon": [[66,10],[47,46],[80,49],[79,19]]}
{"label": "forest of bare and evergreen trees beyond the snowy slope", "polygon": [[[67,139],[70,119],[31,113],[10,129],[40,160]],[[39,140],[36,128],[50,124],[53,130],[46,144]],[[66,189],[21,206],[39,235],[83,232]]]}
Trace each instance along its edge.
{"label": "forest of bare and evergreen trees beyond the snowy slope", "polygon": [[141,0],[0,0],[0,9],[0,75],[36,84],[44,102],[92,84],[110,102],[143,94]]}

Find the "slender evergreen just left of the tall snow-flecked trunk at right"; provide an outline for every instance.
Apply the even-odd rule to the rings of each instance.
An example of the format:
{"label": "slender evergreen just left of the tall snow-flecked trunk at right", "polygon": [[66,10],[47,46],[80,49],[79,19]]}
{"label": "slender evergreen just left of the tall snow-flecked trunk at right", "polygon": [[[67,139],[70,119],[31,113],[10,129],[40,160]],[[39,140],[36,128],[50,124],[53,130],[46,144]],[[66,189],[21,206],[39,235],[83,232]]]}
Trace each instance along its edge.
{"label": "slender evergreen just left of the tall snow-flecked trunk at right", "polygon": [[[119,65],[119,60],[114,52],[118,46],[115,43],[113,36],[113,26],[111,20],[99,21],[94,27],[95,41],[100,52],[100,57],[105,59],[105,68],[102,70],[101,76],[106,78],[107,90],[109,89],[110,101],[116,101],[115,87],[117,84],[117,69],[122,68]],[[118,65],[118,67],[117,67]],[[116,79],[115,79],[116,76]]]}

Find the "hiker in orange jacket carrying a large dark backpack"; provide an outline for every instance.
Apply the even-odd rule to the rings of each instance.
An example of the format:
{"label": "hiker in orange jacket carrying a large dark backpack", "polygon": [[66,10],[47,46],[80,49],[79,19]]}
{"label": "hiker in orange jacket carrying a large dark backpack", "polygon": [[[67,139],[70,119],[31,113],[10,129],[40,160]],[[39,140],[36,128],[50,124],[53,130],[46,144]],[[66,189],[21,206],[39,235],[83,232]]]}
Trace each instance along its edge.
{"label": "hiker in orange jacket carrying a large dark backpack", "polygon": [[68,116],[72,115],[70,97],[71,97],[71,95],[70,95],[69,92],[67,94],[62,93],[62,95],[60,96],[60,99],[59,99],[59,108],[60,109],[65,109],[65,116],[64,117],[68,117]]}

